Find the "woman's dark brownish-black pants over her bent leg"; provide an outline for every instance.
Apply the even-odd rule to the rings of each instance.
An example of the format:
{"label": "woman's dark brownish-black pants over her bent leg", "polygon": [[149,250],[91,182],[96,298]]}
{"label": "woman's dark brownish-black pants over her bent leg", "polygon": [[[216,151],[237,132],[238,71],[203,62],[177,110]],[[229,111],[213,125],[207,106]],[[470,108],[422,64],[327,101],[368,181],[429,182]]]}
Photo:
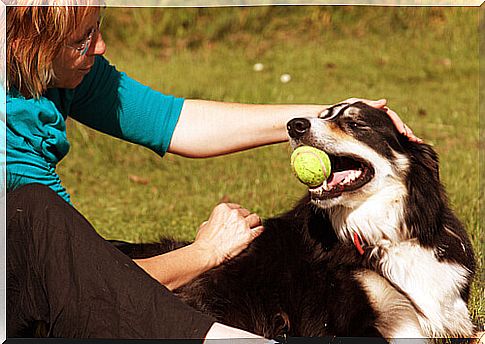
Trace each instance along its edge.
{"label": "woman's dark brownish-black pants over her bent leg", "polygon": [[188,307],[46,186],[7,194],[7,337],[203,338]]}

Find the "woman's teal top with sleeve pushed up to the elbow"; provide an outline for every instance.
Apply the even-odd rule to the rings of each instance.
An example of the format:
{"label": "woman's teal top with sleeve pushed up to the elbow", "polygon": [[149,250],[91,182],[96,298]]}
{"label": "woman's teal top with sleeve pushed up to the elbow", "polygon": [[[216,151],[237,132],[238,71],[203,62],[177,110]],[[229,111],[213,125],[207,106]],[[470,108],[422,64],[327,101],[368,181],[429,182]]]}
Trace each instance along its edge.
{"label": "woman's teal top with sleeve pushed up to the elbow", "polygon": [[[183,105],[118,72],[103,57],[75,89],[49,89],[40,99],[7,93],[7,188],[41,183],[67,202],[56,173],[69,151],[68,116],[103,133],[167,151]],[[88,168],[88,167],[86,167]]]}

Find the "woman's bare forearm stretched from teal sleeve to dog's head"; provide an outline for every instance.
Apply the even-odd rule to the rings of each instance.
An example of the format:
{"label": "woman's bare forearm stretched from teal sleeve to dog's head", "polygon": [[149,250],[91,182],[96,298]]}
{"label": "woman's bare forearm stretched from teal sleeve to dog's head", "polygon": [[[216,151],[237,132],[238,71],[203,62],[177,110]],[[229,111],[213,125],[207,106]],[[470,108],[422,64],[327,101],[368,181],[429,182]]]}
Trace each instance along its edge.
{"label": "woman's bare forearm stretched from teal sleeve to dog's head", "polygon": [[284,142],[289,120],[316,117],[326,108],[186,100],[169,152],[200,158]]}

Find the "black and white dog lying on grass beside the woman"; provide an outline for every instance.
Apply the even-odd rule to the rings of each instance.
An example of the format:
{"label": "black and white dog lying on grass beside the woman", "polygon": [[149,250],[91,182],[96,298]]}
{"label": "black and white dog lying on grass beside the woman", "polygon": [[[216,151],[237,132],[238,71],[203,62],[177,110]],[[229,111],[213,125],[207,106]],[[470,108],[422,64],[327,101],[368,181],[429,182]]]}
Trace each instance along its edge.
{"label": "black and white dog lying on grass beside the woman", "polygon": [[[470,337],[474,256],[448,206],[438,159],[386,113],[339,104],[288,123],[293,148],[327,152],[332,174],[234,259],[176,294],[267,338]],[[125,244],[142,258],[183,245]]]}

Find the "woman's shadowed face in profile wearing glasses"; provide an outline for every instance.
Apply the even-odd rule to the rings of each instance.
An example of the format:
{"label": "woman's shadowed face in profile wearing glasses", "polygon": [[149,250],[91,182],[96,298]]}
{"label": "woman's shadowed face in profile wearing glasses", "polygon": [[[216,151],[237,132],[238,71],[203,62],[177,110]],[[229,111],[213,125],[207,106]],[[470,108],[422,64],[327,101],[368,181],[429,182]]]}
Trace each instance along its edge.
{"label": "woman's shadowed face in profile wearing glasses", "polygon": [[[106,44],[99,30],[96,30],[98,22],[99,10],[97,9],[88,14],[79,25],[78,30],[67,39],[65,46],[61,48],[53,61],[56,78],[51,82],[50,87],[75,88],[91,70],[95,56],[104,54]],[[76,47],[85,42],[93,30],[89,48],[84,55],[81,55]]]}

